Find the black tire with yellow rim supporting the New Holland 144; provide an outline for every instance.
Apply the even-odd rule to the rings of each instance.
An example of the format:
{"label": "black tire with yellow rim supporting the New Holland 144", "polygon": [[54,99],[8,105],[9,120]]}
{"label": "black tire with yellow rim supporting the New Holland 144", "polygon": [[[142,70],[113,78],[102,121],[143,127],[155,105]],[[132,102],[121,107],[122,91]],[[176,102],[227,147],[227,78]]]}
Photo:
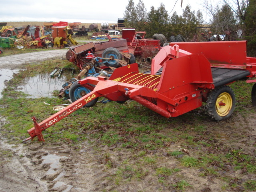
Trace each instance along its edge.
{"label": "black tire with yellow rim supporting the New Holland 144", "polygon": [[236,106],[236,98],[229,86],[212,90],[206,101],[207,113],[216,121],[230,118]]}

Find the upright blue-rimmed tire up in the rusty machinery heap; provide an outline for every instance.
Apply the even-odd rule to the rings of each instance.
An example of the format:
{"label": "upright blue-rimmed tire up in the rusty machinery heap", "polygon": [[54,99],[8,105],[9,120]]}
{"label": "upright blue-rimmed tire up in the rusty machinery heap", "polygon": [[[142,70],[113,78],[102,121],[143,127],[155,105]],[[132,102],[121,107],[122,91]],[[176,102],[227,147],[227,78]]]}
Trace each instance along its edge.
{"label": "upright blue-rimmed tire up in the rusty machinery heap", "polygon": [[[119,53],[119,51],[116,48],[109,47],[104,50],[102,53],[103,58],[111,58],[114,57],[115,59],[122,59],[122,55]],[[119,67],[119,63],[115,60],[106,60],[107,62],[104,63],[106,66],[110,67]]]}

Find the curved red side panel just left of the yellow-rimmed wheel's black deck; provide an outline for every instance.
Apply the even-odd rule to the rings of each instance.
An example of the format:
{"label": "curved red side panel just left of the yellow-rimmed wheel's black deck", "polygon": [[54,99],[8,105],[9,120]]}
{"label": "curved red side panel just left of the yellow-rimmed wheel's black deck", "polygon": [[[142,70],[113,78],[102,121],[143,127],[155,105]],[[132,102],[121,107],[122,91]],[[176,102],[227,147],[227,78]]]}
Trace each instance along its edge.
{"label": "curved red side panel just left of the yellow-rimmed wheel's black deck", "polygon": [[164,64],[159,93],[169,92],[166,95],[174,98],[176,95],[194,92],[198,89],[195,84],[212,85],[210,63],[201,54],[192,54],[172,59]]}

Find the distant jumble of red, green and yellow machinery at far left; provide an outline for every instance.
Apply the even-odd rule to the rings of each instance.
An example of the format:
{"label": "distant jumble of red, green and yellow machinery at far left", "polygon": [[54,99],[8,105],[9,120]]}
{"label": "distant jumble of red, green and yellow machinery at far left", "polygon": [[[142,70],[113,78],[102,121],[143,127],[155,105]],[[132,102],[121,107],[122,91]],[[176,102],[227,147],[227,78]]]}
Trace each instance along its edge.
{"label": "distant jumble of red, green and yellow machinery at far left", "polygon": [[44,31],[43,26],[28,25],[24,29],[3,26],[0,30],[0,48],[63,48],[78,44],[72,38],[73,32],[67,22],[53,24],[50,31]]}

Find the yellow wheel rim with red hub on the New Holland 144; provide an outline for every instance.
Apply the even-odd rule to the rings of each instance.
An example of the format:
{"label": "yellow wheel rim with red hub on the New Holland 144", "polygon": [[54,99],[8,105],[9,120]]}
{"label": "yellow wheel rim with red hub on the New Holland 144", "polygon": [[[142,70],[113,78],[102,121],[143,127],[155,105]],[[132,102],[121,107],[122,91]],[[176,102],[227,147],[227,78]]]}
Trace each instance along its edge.
{"label": "yellow wheel rim with red hub on the New Holland 144", "polygon": [[232,97],[229,93],[220,94],[216,100],[216,112],[219,116],[226,116],[232,108]]}

